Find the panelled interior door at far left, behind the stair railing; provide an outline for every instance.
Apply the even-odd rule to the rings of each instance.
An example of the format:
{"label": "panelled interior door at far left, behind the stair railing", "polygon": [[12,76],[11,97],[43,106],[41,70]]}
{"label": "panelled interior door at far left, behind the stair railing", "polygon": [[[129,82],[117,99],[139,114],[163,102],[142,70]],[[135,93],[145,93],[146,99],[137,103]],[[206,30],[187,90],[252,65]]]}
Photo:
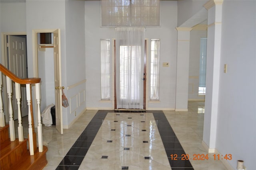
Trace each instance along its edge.
{"label": "panelled interior door at far left, behind the stair railing", "polygon": [[[8,35],[8,69],[19,78],[28,78],[27,74],[27,54],[26,54],[26,35]],[[26,86],[21,85],[21,100],[20,109],[22,117],[28,115],[28,105],[26,98]],[[12,89],[15,89],[15,84],[12,82]],[[15,90],[12,91],[12,108],[13,118],[18,119],[18,106]]]}

